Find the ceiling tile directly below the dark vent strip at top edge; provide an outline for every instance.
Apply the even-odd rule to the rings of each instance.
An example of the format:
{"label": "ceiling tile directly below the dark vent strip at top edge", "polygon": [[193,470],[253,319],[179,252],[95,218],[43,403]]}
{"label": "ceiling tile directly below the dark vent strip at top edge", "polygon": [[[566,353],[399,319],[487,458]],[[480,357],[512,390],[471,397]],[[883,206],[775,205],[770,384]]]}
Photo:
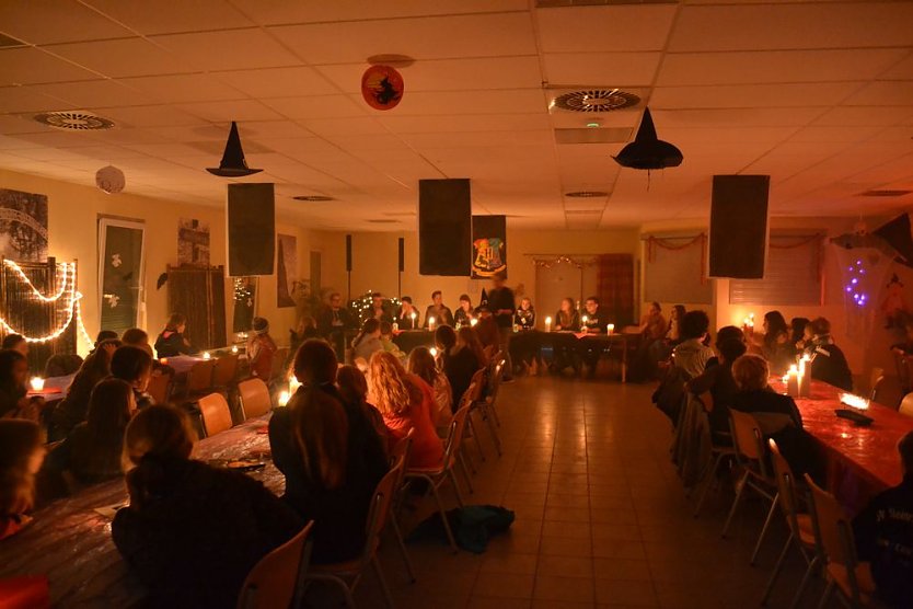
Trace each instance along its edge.
{"label": "ceiling tile directly below the dark vent strip at top edge", "polygon": [[675,15],[674,4],[539,9],[542,50],[661,50]]}

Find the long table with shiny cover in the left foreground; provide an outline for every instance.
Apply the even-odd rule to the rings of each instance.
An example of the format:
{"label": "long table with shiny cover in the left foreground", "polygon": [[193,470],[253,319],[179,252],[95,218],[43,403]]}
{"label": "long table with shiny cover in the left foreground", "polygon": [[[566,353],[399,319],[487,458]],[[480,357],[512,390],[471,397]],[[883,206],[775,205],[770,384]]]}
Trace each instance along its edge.
{"label": "long table with shiny cover in the left foreground", "polygon": [[[194,457],[200,460],[267,455],[269,440],[257,433],[269,415],[200,440]],[[266,459],[266,468],[251,475],[276,494],[285,478]],[[37,510],[34,521],[0,543],[0,578],[46,575],[55,607],[134,607],[146,590],[129,572],[111,539],[111,520],[96,508],[127,503],[123,479],[96,484]]]}

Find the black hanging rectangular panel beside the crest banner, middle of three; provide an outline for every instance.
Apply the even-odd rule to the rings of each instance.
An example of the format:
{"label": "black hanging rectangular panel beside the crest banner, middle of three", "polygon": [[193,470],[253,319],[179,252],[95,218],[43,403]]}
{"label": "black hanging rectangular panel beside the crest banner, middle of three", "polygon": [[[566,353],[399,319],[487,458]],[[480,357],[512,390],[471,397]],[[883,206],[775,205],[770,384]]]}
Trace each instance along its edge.
{"label": "black hanging rectangular panel beside the crest banner, middle of three", "polygon": [[466,277],[472,265],[470,181],[418,181],[418,273]]}

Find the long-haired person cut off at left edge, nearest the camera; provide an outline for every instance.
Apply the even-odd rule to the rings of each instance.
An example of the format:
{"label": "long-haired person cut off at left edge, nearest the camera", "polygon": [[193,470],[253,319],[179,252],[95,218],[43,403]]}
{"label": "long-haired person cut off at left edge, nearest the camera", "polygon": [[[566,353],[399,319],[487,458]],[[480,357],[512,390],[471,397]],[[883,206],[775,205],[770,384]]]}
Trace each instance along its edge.
{"label": "long-haired person cut off at left edge, nearest the camera", "polygon": [[0,540],[32,521],[35,474],[45,458],[44,438],[32,421],[0,418]]}

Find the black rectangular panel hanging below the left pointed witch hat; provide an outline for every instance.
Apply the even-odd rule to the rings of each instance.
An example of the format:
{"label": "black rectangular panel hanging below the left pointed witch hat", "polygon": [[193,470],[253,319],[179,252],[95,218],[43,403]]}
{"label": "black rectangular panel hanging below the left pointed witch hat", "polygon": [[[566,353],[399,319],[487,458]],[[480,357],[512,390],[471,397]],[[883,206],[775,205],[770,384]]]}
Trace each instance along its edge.
{"label": "black rectangular panel hanging below the left pointed witch hat", "polygon": [[229,184],[229,275],[271,275],[276,260],[273,184]]}

